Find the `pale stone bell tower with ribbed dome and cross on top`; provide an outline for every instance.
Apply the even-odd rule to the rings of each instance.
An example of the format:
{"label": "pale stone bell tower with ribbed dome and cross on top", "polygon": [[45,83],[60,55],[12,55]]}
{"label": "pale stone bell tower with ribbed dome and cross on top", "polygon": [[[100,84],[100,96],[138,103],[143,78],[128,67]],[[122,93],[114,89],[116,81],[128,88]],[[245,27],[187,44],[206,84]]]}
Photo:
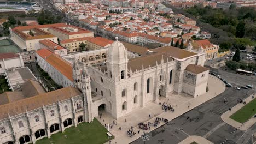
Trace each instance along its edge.
{"label": "pale stone bell tower with ribbed dome and cross on top", "polygon": [[128,70],[128,52],[125,46],[118,41],[118,37],[115,37],[115,41],[108,49],[108,77],[114,81],[121,81],[127,78]]}

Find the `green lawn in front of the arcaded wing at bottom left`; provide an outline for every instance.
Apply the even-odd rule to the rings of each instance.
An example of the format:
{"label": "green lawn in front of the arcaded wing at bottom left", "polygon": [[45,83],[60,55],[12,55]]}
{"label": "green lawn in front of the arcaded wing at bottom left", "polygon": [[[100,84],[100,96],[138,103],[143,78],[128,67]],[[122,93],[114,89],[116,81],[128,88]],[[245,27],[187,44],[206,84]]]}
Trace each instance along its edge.
{"label": "green lawn in front of the arcaded wing at bottom left", "polygon": [[45,137],[42,140],[38,140],[36,144],[101,144],[107,142],[110,139],[113,139],[112,136],[108,139],[107,130],[101,125],[100,122],[95,118],[91,123],[80,123],[77,128],[71,127],[65,129],[65,133],[56,133],[51,135],[51,138],[48,139]]}

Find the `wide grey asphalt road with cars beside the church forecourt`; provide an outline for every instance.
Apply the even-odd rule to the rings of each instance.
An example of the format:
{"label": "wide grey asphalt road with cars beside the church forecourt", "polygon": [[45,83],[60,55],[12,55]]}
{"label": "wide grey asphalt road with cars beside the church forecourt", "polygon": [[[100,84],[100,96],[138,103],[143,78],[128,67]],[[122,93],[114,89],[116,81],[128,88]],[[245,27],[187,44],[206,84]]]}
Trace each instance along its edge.
{"label": "wide grey asphalt road with cars beside the church forecourt", "polygon": [[[224,70],[216,70],[232,85],[245,85],[255,83],[255,76],[237,75],[228,73]],[[236,80],[236,79],[237,80]],[[255,86],[255,84],[253,84]],[[195,109],[173,119],[168,124],[149,133],[150,140],[147,143],[179,143],[189,135],[199,135],[212,141],[213,143],[225,144],[251,144],[253,131],[256,131],[256,124],[247,131],[236,130],[234,127],[224,123],[220,115],[229,108],[237,104],[237,99],[245,99],[246,94],[254,93],[254,90],[234,88],[226,88],[226,90],[217,97],[207,101],[206,103],[195,107]],[[224,104],[223,99],[227,99],[228,103]],[[190,120],[187,118],[190,117]],[[180,130],[182,128],[183,130]],[[144,143],[141,139],[132,142],[133,144]]]}

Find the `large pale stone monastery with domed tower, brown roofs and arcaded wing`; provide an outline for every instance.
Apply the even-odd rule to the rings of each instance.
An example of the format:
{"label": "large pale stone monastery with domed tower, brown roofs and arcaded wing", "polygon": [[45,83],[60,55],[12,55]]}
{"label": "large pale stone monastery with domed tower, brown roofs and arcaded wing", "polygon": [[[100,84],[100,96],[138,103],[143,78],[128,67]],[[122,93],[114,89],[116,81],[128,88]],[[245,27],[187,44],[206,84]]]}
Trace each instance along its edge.
{"label": "large pale stone monastery with domed tower, brown roofs and arcaded wing", "polygon": [[[69,70],[65,74],[56,68],[58,64],[54,66],[54,58],[50,63],[47,58],[38,58],[40,67],[53,80],[68,79],[72,83],[57,91],[0,105],[0,143],[35,143],[80,122],[91,122],[99,109],[119,118],[150,101],[172,97],[173,92],[195,98],[206,93],[209,70],[203,67],[204,53],[165,46],[130,57],[117,37],[107,49],[106,62],[91,65],[83,55],[88,56],[86,51],[72,54],[72,63],[57,58],[58,64]],[[51,74],[53,69],[55,75],[62,76]]]}

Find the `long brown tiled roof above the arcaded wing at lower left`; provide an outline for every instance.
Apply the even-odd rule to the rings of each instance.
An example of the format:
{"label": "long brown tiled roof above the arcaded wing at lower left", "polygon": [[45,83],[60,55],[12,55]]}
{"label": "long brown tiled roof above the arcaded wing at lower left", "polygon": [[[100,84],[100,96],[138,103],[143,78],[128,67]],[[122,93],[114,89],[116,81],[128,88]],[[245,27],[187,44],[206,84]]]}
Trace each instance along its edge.
{"label": "long brown tiled roof above the arcaded wing at lower left", "polygon": [[80,95],[81,92],[74,87],[65,87],[49,93],[42,93],[34,97],[15,101],[13,103],[0,105],[0,119],[15,116],[26,111],[38,109],[40,107],[57,103],[58,101],[69,99]]}

